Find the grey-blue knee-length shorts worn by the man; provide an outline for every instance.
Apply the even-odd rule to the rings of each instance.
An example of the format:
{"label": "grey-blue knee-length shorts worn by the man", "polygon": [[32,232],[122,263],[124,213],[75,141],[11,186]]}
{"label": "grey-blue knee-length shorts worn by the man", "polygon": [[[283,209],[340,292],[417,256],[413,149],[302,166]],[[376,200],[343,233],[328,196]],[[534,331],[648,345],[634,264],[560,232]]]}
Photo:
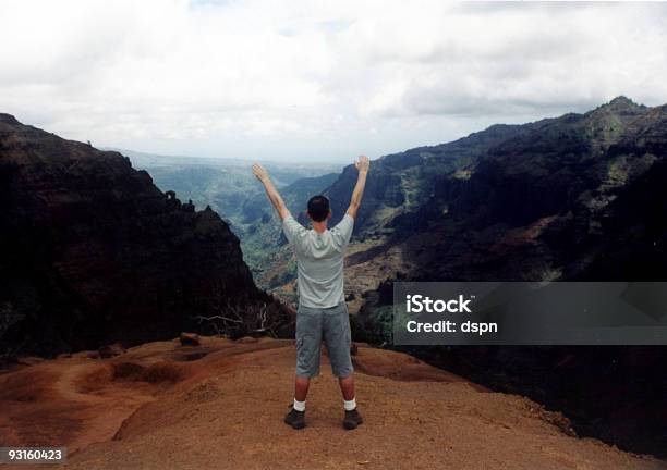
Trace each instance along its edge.
{"label": "grey-blue knee-length shorts worn by the man", "polygon": [[296,311],[296,375],[319,375],[319,350],[324,339],[331,372],[347,378],[354,370],[350,358],[350,314],[345,302],[331,308],[299,306]]}

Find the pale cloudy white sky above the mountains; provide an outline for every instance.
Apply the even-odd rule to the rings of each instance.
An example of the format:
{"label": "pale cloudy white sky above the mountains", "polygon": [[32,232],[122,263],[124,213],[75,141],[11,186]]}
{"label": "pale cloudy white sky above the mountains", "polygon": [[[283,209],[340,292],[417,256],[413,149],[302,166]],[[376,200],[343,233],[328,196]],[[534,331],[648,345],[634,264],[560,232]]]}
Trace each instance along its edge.
{"label": "pale cloudy white sky above the mountains", "polygon": [[350,161],[667,102],[667,5],[0,0],[0,112],[95,146]]}

